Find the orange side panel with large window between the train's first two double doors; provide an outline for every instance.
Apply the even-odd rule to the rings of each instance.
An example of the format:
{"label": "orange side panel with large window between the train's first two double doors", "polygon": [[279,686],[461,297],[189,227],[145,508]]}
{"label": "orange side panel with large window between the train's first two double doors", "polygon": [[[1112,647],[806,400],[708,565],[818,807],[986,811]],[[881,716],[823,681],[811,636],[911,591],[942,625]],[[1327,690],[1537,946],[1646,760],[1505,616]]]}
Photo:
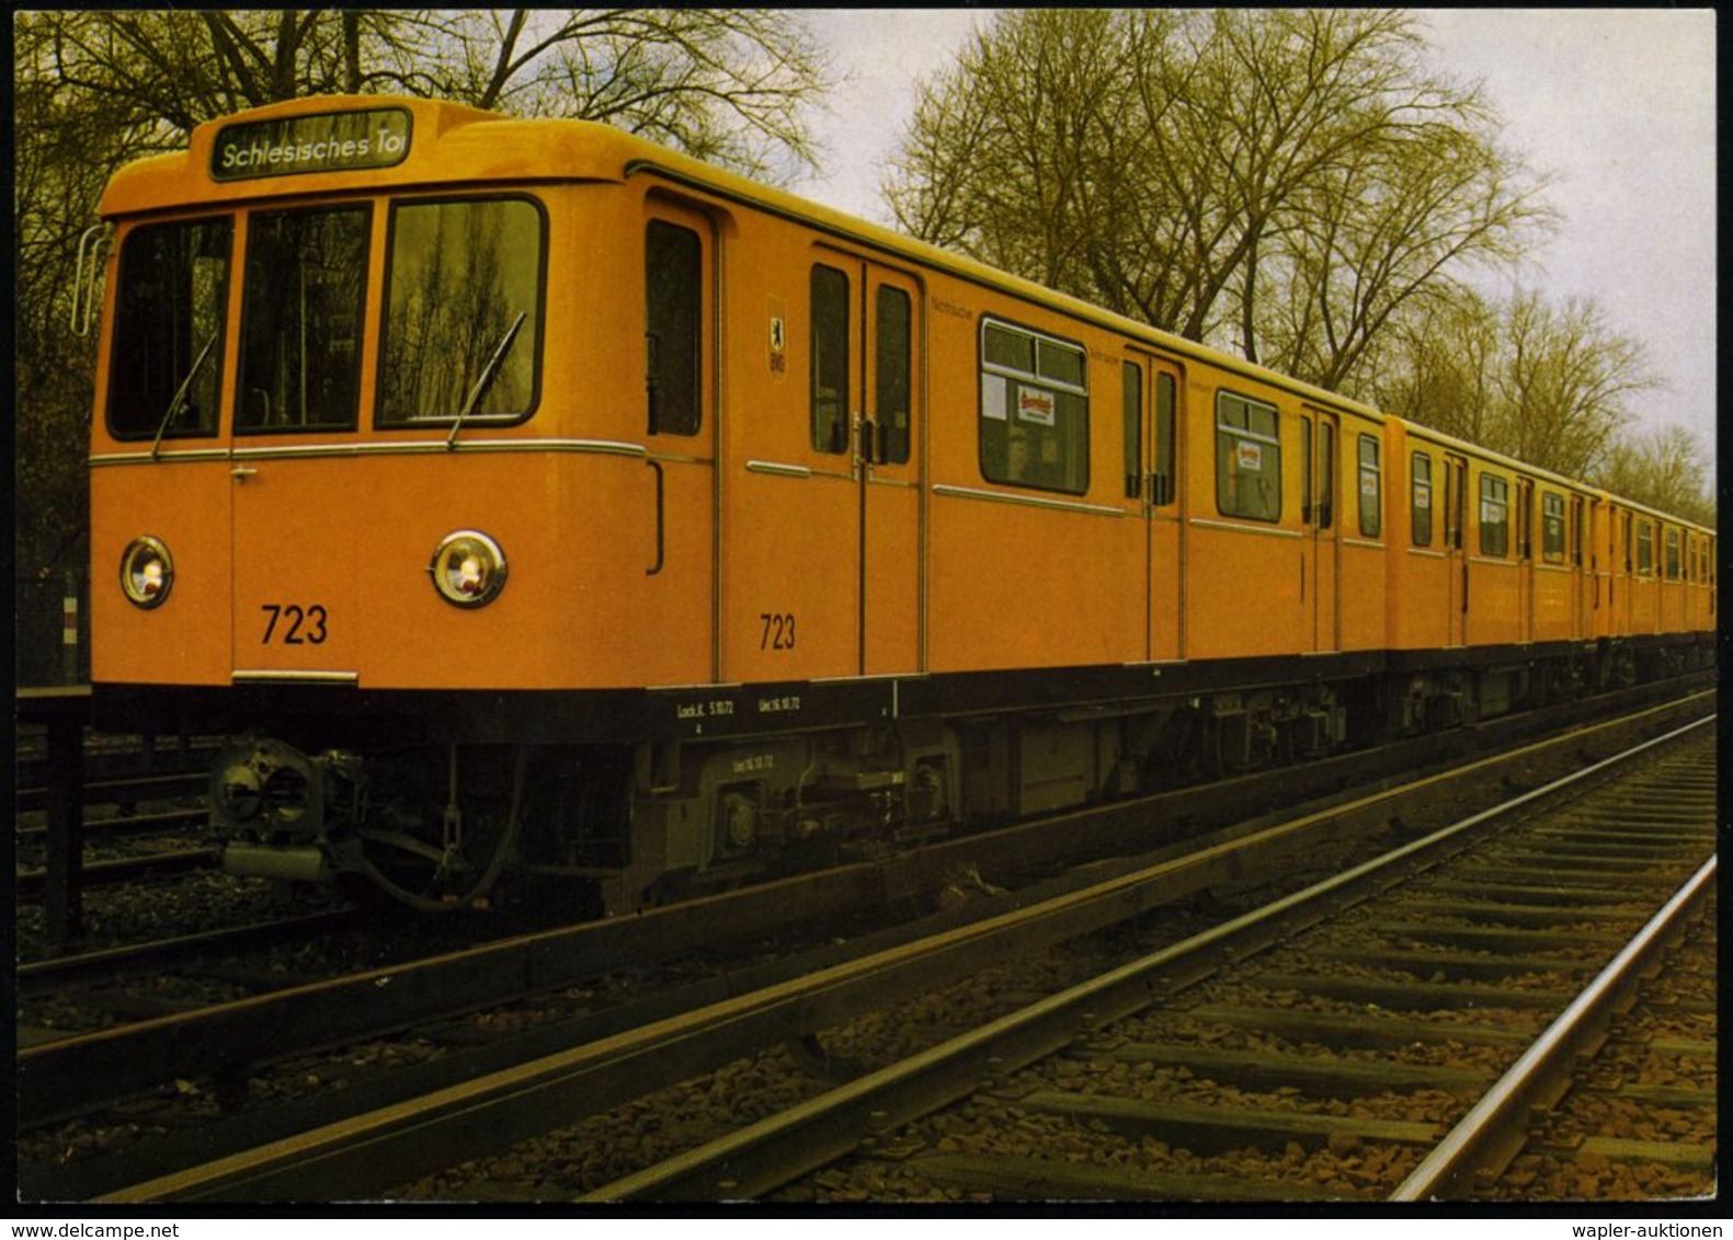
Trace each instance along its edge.
{"label": "orange side panel with large window between the train's first two double doors", "polygon": [[1120,341],[943,275],[929,305],[929,668],[1144,660]]}

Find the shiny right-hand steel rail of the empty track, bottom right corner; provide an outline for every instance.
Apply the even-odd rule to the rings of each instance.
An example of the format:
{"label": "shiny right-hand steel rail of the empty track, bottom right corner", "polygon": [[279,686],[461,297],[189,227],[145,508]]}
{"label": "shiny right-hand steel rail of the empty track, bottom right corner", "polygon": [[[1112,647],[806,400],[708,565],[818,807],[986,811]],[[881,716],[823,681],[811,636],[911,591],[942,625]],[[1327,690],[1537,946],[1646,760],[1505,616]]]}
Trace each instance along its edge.
{"label": "shiny right-hand steel rail of the empty track, bottom right corner", "polygon": [[[1702,904],[1716,882],[1716,857],[1672,894],[1648,925],[1603,968],[1558,1020],[1523,1051],[1499,1081],[1475,1103],[1390,1195],[1392,1202],[1440,1200],[1459,1190],[1478,1171],[1496,1171],[1527,1133],[1529,1110],[1568,1074],[1579,1048],[1596,1036],[1613,1006],[1636,985],[1643,968],[1667,944],[1679,925]],[[1513,1136],[1516,1138],[1513,1141]]]}

